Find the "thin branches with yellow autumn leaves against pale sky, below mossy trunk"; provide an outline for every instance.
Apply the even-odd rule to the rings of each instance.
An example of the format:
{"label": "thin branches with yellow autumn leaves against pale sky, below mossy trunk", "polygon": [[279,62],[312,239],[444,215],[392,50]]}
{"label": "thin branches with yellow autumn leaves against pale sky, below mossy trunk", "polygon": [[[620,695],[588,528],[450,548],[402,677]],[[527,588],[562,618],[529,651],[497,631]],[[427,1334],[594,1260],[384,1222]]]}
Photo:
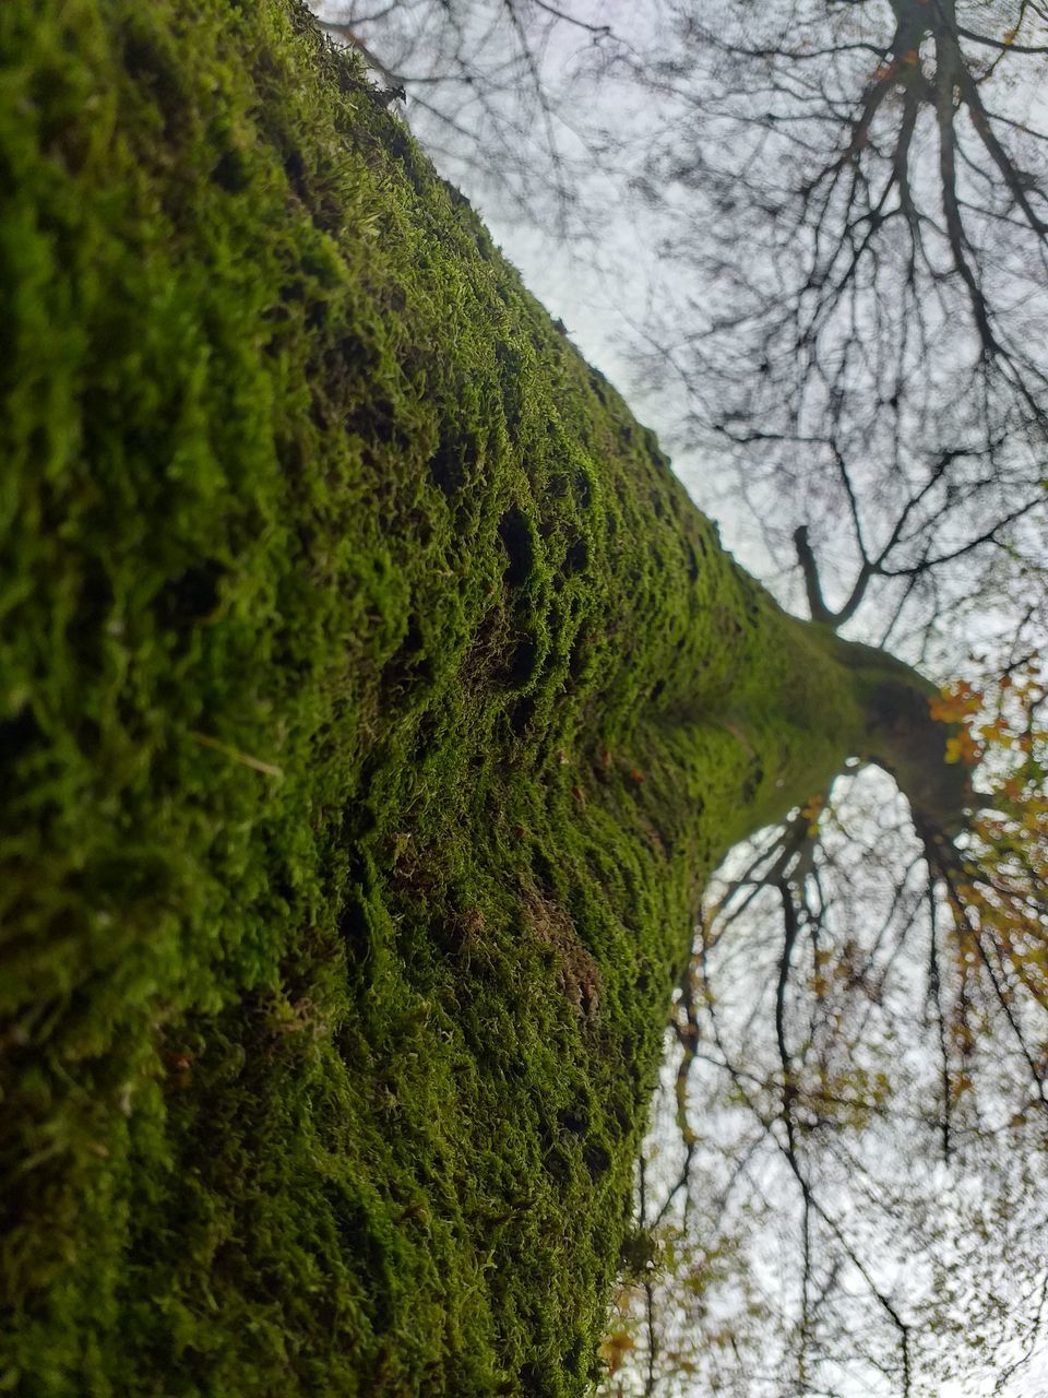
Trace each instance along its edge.
{"label": "thin branches with yellow autumn leaves against pale sky, below mossy trunk", "polygon": [[[1041,702],[1028,688],[1020,733]],[[1013,755],[1012,795],[984,800],[1009,807],[1021,772],[1031,788],[1007,837],[1017,857],[982,867],[974,913],[949,871],[929,878],[935,856],[869,769],[777,843],[738,851],[678,1000],[675,1074],[641,1166],[668,1261],[637,1296],[640,1371],[623,1392],[1031,1391],[1044,727],[1027,763],[999,724],[982,727]],[[1000,847],[985,823],[973,854]]]}

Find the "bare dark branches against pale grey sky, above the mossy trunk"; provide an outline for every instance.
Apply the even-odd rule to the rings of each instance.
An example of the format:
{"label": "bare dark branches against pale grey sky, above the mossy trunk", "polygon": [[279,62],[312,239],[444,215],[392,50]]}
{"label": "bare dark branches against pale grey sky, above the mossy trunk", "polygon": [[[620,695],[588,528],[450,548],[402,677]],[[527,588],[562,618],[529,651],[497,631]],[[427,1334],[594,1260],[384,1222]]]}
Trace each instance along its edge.
{"label": "bare dark branches against pale grey sky, above the mossy trunk", "polygon": [[701,500],[749,503],[795,604],[843,624],[872,589],[868,639],[928,651],[992,568],[1040,562],[1040,7],[320,8],[451,178],[599,264],[646,401],[717,463]]}

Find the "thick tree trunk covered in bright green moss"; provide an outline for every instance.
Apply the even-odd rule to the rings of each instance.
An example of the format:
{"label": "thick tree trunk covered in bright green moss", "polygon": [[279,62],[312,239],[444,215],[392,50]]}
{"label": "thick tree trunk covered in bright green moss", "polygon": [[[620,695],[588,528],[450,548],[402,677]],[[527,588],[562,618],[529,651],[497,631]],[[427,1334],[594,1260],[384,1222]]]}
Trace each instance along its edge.
{"label": "thick tree trunk covered in bright green moss", "polygon": [[281,0],[0,6],[0,1391],[585,1391],[703,881],[926,686]]}

